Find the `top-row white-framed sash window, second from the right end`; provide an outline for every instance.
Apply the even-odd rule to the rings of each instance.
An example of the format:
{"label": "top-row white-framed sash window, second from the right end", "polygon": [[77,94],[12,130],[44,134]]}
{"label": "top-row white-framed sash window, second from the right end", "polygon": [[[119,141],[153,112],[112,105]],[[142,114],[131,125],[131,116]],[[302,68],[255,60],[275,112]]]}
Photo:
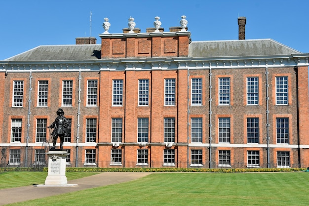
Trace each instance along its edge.
{"label": "top-row white-framed sash window, second from the right end", "polygon": [[247,105],[259,105],[259,77],[247,77]]}

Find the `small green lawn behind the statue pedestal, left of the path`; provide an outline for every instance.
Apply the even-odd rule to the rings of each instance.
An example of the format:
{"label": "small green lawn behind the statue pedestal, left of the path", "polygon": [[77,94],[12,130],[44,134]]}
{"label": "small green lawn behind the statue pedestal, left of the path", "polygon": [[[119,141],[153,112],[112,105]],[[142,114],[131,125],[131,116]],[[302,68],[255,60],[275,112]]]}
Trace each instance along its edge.
{"label": "small green lawn behind the statue pedestal, left of the path", "polygon": [[[66,172],[68,180],[78,179],[98,172]],[[0,189],[44,184],[47,172],[4,172],[0,174]]]}

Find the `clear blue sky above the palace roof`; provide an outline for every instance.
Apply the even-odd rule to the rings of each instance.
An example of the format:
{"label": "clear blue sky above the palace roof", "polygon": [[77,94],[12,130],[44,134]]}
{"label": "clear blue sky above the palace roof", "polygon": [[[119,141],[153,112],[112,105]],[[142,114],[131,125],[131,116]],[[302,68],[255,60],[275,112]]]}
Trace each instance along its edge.
{"label": "clear blue sky above the palace roof", "polygon": [[90,31],[100,43],[105,17],[110,33],[122,33],[130,16],[146,32],[155,16],[169,31],[186,15],[192,41],[237,40],[237,17],[245,16],[247,40],[270,38],[309,53],[309,0],[0,0],[0,8],[0,60],[39,45],[75,44]]}

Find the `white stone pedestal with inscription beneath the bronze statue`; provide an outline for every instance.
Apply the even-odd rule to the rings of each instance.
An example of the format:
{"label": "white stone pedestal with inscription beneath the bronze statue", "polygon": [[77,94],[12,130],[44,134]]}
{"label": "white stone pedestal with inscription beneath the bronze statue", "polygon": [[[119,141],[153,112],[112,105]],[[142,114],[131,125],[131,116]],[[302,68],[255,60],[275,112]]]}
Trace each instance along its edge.
{"label": "white stone pedestal with inscription beneath the bronze statue", "polygon": [[48,156],[48,175],[45,185],[67,185],[66,158],[69,155],[66,151],[50,150]]}

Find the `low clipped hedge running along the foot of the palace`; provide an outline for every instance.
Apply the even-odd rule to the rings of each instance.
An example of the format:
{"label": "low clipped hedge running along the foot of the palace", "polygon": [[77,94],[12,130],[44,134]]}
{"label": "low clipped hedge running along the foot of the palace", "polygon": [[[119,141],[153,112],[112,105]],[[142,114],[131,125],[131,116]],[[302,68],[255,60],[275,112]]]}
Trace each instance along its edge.
{"label": "low clipped hedge running along the foot of the palace", "polygon": [[[100,168],[100,167],[67,167],[68,172],[292,172],[305,171],[305,168],[230,168],[230,169],[209,169],[209,168]],[[35,168],[7,167],[0,168],[5,171],[37,171]],[[47,167],[43,168],[47,171]]]}

